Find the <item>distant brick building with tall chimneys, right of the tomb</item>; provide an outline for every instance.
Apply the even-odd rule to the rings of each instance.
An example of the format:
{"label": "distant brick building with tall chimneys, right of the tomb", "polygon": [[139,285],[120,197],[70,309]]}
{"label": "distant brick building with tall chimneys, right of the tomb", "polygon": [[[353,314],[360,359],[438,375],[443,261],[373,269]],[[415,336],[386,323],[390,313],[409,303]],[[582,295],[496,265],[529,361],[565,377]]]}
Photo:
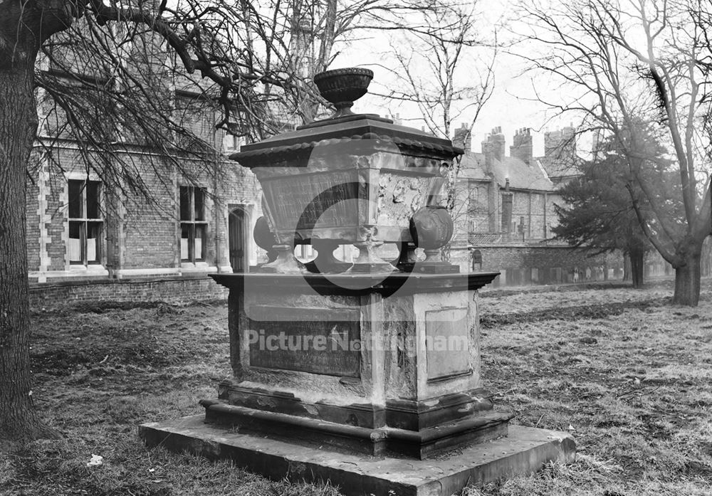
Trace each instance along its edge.
{"label": "distant brick building with tall chimneys, right of the tomb", "polygon": [[527,128],[515,132],[509,155],[501,127],[488,134],[481,152],[473,151],[469,134],[462,127],[454,137],[465,154],[456,186],[451,260],[462,268],[500,271],[495,285],[622,278],[620,254],[590,256],[589,250],[550,239],[558,223],[555,206],[562,204],[557,187],[576,174],[572,128],[546,133],[543,157],[534,157]]}

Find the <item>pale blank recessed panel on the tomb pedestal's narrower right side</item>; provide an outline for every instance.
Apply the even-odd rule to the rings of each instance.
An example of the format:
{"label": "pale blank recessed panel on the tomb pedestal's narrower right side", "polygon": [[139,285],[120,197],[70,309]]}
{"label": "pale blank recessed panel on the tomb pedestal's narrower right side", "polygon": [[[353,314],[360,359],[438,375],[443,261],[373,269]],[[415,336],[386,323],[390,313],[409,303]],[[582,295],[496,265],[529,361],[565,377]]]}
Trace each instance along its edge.
{"label": "pale blank recessed panel on the tomb pedestal's narrower right side", "polygon": [[466,308],[425,312],[425,334],[429,381],[471,372]]}

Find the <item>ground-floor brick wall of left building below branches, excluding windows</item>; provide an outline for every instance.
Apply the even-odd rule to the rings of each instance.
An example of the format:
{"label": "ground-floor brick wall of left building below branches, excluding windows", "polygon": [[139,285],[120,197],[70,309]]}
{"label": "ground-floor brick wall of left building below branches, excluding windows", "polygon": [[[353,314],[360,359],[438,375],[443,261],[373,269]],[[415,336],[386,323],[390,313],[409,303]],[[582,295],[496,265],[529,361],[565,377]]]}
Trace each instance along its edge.
{"label": "ground-floor brick wall of left building below branches, excluding windows", "polygon": [[[215,173],[204,170],[188,180],[179,178],[172,167],[157,170],[156,157],[145,152],[130,154],[135,174],[151,191],[150,199],[127,189],[112,191],[103,184],[100,263],[74,265],[67,254],[68,179],[100,178],[87,173],[70,143],[53,149],[51,159],[36,152],[26,202],[31,283],[229,272],[228,217],[230,209],[238,206],[248,212],[244,247],[248,263],[257,263],[259,250],[251,232],[261,216],[261,192],[250,171],[221,160],[208,164]],[[178,191],[182,185],[206,191],[204,260],[196,263],[181,260]]]}

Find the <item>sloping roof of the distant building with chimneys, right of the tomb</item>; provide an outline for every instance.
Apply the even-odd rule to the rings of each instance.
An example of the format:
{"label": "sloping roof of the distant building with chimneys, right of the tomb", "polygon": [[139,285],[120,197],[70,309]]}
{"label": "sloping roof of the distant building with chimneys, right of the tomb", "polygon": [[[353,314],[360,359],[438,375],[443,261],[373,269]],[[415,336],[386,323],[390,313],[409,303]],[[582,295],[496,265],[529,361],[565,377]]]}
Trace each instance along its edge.
{"label": "sloping roof of the distant building with chimneys, right of the tomb", "polygon": [[495,179],[499,186],[504,187],[509,179],[512,189],[528,189],[535,191],[554,191],[555,186],[546,171],[537,160],[527,165],[515,157],[503,157],[501,161],[492,160],[490,167],[486,165],[485,155],[466,152],[462,158],[459,176],[462,179],[476,181],[491,181]]}

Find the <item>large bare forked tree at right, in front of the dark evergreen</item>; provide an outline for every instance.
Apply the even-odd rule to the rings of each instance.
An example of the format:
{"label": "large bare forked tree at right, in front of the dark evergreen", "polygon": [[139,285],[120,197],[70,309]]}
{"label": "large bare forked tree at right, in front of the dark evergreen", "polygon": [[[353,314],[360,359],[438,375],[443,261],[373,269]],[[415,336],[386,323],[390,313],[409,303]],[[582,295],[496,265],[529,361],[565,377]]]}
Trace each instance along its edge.
{"label": "large bare forked tree at right, in front of the dark evergreen", "polygon": [[[572,0],[556,6],[521,4],[526,12],[520,51],[533,70],[561,83],[565,102],[540,100],[575,112],[603,130],[627,158],[631,199],[654,248],[675,269],[673,301],[698,304],[702,243],[711,232],[709,134],[712,114],[708,18],[697,0]],[[697,22],[695,22],[697,21]],[[644,142],[652,135],[674,158],[679,193],[663,198],[646,175]],[[634,187],[633,187],[634,184]],[[651,209],[644,215],[633,191]],[[676,218],[666,202],[682,206]]]}

